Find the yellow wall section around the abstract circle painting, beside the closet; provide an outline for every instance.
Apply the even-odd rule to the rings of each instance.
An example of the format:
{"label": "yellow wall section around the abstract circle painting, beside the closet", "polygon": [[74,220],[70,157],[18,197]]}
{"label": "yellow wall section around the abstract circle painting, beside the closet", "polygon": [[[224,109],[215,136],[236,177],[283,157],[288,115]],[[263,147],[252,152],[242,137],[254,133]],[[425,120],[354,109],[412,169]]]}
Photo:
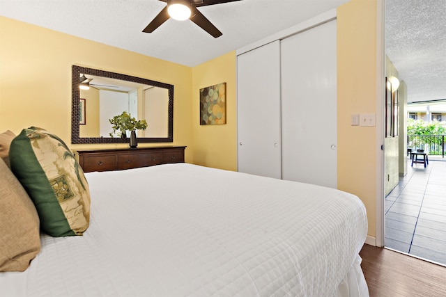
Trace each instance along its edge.
{"label": "yellow wall section around the abstract circle painting, beside the closet", "polygon": [[[194,67],[192,79],[192,154],[197,165],[237,170],[236,52]],[[226,124],[200,125],[199,90],[226,82]]]}

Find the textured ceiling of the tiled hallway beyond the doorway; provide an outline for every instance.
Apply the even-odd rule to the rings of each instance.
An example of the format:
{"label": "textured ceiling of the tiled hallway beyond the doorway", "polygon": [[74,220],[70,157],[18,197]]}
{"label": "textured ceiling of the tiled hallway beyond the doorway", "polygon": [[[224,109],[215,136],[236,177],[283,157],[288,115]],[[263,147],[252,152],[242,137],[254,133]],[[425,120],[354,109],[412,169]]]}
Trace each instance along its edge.
{"label": "textured ceiling of the tiled hallway beyond the doorway", "polygon": [[446,99],[446,0],[386,0],[385,51],[408,102]]}

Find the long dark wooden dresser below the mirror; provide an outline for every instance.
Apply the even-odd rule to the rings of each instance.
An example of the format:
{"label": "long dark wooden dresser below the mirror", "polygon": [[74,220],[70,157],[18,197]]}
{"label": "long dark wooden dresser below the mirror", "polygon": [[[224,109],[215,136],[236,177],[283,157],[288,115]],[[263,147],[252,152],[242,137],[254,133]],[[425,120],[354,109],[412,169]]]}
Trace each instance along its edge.
{"label": "long dark wooden dresser below the mirror", "polygon": [[136,149],[77,150],[84,172],[123,170],[184,162],[185,147],[142,147]]}

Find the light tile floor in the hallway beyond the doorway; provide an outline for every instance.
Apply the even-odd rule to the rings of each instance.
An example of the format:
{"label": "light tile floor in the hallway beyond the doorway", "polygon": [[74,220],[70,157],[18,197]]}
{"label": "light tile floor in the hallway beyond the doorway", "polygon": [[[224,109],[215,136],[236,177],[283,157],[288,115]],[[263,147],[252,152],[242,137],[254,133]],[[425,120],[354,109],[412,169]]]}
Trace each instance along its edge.
{"label": "light tile floor in the hallway beyond the doorway", "polygon": [[385,198],[385,246],[446,266],[446,161],[407,168]]}

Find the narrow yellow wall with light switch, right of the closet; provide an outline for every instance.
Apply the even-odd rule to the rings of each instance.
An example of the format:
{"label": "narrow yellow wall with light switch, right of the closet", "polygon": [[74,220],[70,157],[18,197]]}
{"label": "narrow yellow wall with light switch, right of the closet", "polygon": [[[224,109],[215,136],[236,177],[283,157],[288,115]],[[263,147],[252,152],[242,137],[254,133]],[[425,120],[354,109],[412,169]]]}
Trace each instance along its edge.
{"label": "narrow yellow wall with light switch, right of the closet", "polygon": [[376,236],[376,127],[351,126],[353,113],[376,107],[376,0],[337,8],[338,188],[361,198]]}

